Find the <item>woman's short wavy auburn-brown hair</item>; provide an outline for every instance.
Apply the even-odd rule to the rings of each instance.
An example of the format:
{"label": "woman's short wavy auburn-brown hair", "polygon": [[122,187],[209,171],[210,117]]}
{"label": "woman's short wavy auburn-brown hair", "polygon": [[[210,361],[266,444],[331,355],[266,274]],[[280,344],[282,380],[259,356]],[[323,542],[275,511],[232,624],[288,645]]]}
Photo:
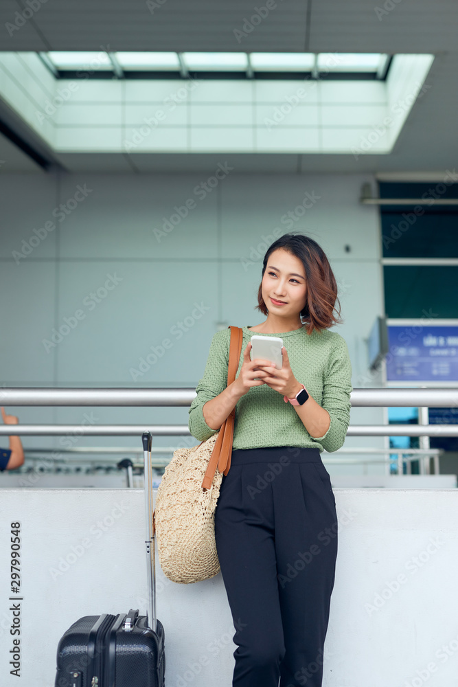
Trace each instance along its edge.
{"label": "woman's short wavy auburn-brown hair", "polygon": [[[306,305],[301,310],[300,316],[307,320],[307,333],[312,334],[314,329],[321,331],[332,327],[334,324],[342,324],[336,278],[321,246],[304,234],[289,233],[280,236],[266,251],[262,262],[262,277],[264,277],[269,256],[279,248],[299,258],[304,265],[307,293]],[[339,317],[334,317],[336,302],[339,304],[339,309],[336,310]],[[262,280],[257,291],[255,309],[260,310],[263,315],[268,313],[262,297]]]}

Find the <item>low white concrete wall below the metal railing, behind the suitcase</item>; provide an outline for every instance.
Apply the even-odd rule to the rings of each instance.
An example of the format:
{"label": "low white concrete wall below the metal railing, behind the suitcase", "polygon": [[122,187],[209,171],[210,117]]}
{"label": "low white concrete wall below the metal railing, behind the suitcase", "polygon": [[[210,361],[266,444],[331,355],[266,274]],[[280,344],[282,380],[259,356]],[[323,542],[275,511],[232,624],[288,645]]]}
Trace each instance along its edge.
{"label": "low white concrete wall below the metal railing, behind the suitcase", "polygon": [[[323,687],[455,687],[457,491],[336,489],[335,495],[339,548]],[[8,670],[15,521],[21,522],[21,681]],[[54,685],[58,640],[78,618],[146,610],[141,490],[4,490],[0,550],[3,687]],[[157,615],[165,628],[166,687],[230,687],[235,629],[220,574],[178,585],[157,563]]]}

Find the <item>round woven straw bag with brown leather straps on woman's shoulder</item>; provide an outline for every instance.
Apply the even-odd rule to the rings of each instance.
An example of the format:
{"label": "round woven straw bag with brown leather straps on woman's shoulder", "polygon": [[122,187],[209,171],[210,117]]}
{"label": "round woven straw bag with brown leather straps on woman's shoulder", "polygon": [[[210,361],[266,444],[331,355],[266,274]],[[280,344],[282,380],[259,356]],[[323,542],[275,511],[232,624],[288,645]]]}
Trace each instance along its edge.
{"label": "round woven straw bag with brown leather straps on woman's shoulder", "polygon": [[[236,379],[243,335],[240,327],[229,328],[228,386]],[[165,467],[153,522],[159,563],[172,582],[201,582],[220,572],[215,509],[222,475],[231,466],[235,416],[233,408],[215,434],[192,449],[176,449]]]}

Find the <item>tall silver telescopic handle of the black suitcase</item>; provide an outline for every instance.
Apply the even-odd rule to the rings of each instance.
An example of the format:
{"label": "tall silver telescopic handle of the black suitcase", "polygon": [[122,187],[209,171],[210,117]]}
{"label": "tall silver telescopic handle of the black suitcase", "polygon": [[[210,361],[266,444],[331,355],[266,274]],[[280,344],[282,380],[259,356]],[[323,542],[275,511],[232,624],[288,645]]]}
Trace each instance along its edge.
{"label": "tall silver telescopic handle of the black suitcase", "polygon": [[145,516],[146,516],[146,574],[148,580],[148,618],[146,622],[154,632],[156,624],[156,561],[154,556],[154,513],[152,509],[152,466],[151,447],[152,434],[144,431],[141,435],[144,449],[145,473]]}

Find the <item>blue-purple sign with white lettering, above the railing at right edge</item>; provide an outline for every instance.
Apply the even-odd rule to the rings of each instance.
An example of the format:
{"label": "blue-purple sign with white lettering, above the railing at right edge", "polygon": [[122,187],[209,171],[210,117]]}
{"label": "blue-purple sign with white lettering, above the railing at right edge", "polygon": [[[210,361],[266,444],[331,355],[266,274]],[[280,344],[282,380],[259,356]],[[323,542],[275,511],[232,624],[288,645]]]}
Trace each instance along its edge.
{"label": "blue-purple sign with white lettering, above the railing at right edge", "polygon": [[458,381],[458,326],[388,325],[387,381]]}

